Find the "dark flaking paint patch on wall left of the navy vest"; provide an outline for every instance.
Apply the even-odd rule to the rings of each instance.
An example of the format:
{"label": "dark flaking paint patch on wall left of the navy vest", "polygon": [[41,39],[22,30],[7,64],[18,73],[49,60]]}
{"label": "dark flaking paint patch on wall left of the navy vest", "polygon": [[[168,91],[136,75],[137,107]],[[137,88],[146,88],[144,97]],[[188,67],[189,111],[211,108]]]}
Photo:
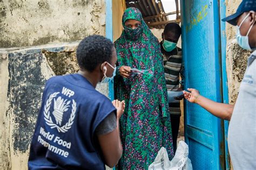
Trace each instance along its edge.
{"label": "dark flaking paint patch on wall left of the navy vest", "polygon": [[36,49],[9,54],[8,115],[13,120],[11,137],[15,152],[24,153],[29,148],[45,83],[37,67],[43,60],[41,51]]}

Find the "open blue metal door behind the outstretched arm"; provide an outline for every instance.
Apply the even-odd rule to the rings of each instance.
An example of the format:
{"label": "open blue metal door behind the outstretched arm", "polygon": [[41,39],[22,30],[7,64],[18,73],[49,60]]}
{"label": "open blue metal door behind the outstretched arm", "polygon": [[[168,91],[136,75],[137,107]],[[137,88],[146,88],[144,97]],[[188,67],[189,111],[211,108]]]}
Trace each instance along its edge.
{"label": "open blue metal door behind the outstretched arm", "polygon": [[[221,102],[219,1],[181,0],[185,88]],[[197,104],[185,102],[185,140],[193,169],[225,169],[224,124]]]}

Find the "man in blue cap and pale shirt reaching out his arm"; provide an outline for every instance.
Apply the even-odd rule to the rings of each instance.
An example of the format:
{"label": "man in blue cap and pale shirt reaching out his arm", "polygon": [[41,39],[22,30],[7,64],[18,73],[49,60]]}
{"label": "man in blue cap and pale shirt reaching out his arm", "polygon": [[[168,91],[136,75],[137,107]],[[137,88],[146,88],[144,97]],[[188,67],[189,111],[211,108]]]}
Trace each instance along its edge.
{"label": "man in blue cap and pale shirt reaching out his arm", "polygon": [[217,103],[199,94],[196,89],[184,91],[186,100],[197,103],[214,116],[230,121],[228,151],[234,169],[256,169],[256,0],[244,0],[237,12],[226,21],[237,26],[237,42],[244,49],[252,50],[240,84],[235,105]]}

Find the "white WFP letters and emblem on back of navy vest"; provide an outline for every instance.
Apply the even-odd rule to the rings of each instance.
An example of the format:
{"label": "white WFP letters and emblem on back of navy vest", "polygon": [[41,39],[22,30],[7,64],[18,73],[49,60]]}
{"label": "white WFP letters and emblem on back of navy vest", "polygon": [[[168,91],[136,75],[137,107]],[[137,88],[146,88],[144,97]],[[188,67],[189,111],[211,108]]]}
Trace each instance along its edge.
{"label": "white WFP letters and emblem on back of navy vest", "polygon": [[[57,97],[58,94],[59,92],[52,93],[49,96],[48,100],[46,100],[46,103],[44,105],[44,120],[45,120],[45,123],[51,127],[51,129],[56,128],[58,132],[65,133],[71,128],[72,124],[74,123],[74,119],[76,117],[77,103],[73,99],[64,100],[64,98],[62,98],[61,96]],[[69,90],[68,88],[63,87],[62,94],[68,97],[71,97],[75,93],[72,90]],[[52,100],[53,100],[53,111],[51,113],[50,108],[51,108]],[[67,111],[69,110],[70,107],[71,107],[71,112],[69,113]],[[70,118],[69,118],[69,121],[63,125],[64,114],[65,115],[70,114]],[[52,121],[52,118],[55,119],[56,123]]]}

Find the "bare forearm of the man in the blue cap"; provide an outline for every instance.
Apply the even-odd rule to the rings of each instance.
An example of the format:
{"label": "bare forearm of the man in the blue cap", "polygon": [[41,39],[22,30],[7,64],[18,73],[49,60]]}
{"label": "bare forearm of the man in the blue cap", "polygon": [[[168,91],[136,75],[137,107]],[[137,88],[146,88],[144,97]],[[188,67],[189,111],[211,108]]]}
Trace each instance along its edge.
{"label": "bare forearm of the man in the blue cap", "polygon": [[234,105],[217,103],[201,95],[198,96],[195,102],[212,115],[230,121]]}

